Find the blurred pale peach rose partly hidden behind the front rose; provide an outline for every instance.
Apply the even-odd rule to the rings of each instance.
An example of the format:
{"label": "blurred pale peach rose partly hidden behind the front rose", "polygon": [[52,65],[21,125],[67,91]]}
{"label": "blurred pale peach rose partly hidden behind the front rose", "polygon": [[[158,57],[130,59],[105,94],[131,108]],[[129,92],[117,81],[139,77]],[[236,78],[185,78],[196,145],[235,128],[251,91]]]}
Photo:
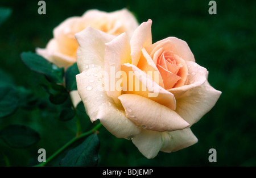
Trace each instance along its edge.
{"label": "blurred pale peach rose partly hidden behind the front rose", "polygon": [[[64,20],[53,30],[53,39],[48,42],[47,47],[45,49],[36,48],[36,53],[58,67],[67,69],[76,62],[78,43],[75,34],[88,26],[112,35],[126,32],[131,38],[133,31],[138,27],[138,22],[134,15],[126,9],[112,13],[88,10],[82,16],[74,16]],[[71,96],[73,104],[76,106],[81,101],[77,91],[72,91]]]}

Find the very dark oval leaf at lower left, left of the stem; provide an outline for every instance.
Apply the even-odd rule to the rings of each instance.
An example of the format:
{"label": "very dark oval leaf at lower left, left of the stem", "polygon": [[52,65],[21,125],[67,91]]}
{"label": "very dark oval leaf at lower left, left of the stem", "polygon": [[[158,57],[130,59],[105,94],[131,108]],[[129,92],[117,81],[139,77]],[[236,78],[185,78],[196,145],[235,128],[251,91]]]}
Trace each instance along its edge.
{"label": "very dark oval leaf at lower left, left of the stem", "polygon": [[9,125],[0,132],[0,138],[13,148],[26,148],[39,141],[39,134],[24,125]]}

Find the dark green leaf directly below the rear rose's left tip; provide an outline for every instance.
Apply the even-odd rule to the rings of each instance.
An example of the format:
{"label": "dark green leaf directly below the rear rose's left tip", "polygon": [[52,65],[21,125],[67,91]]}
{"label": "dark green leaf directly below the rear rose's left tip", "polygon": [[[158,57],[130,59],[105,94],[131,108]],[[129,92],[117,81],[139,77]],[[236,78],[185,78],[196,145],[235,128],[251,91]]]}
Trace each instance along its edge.
{"label": "dark green leaf directly below the rear rose's left tip", "polygon": [[22,52],[23,63],[34,72],[44,74],[47,80],[55,83],[63,83],[64,69],[49,63],[44,57],[32,52]]}

